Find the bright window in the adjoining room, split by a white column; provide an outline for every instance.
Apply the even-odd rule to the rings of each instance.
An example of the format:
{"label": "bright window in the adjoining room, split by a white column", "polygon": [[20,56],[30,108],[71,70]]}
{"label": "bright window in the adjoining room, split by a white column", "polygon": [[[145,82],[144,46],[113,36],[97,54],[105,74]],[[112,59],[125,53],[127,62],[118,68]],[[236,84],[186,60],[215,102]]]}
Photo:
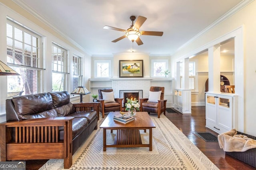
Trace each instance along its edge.
{"label": "bright window in the adjoining room, split by a white column", "polygon": [[[188,88],[191,89],[192,91],[196,91],[196,61],[190,61],[188,63],[189,67],[189,80],[188,80]],[[182,78],[182,63],[180,63],[180,88],[183,87],[183,78]]]}

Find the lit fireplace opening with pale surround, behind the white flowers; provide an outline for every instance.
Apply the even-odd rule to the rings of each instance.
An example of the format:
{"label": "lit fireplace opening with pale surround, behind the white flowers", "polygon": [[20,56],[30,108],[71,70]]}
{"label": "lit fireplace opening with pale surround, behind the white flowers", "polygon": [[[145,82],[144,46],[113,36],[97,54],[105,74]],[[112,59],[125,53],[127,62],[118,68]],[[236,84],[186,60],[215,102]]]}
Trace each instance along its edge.
{"label": "lit fireplace opening with pale surround, behind the white flowers", "polygon": [[123,98],[122,107],[125,107],[126,98],[139,100],[143,98],[143,90],[119,90],[119,98]]}

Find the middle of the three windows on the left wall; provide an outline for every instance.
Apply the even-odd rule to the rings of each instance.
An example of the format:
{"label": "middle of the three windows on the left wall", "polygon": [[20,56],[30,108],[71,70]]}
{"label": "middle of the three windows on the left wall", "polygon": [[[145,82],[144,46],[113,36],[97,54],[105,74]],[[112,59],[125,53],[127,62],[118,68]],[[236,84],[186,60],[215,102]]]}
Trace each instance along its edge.
{"label": "middle of the three windows on the left wall", "polygon": [[52,43],[52,91],[68,90],[67,51]]}

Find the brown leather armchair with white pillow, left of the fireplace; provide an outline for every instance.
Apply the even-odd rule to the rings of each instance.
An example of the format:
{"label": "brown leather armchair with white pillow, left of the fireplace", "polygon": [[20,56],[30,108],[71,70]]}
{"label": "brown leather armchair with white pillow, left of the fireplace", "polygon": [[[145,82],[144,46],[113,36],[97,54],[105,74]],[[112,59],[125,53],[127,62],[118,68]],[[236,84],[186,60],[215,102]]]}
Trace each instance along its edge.
{"label": "brown leather armchair with white pillow, left of the fireplace", "polygon": [[102,118],[104,114],[109,111],[122,111],[122,100],[121,98],[114,98],[113,89],[99,89],[99,100],[100,112]]}

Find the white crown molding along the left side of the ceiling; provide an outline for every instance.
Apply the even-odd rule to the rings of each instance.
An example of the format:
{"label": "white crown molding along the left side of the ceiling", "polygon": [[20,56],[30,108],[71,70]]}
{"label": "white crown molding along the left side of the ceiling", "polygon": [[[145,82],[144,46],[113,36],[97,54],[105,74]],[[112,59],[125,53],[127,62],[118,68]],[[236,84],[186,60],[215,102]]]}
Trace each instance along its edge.
{"label": "white crown molding along the left side of the ceiling", "polygon": [[[57,27],[54,26],[50,21],[48,21],[46,18],[38,14],[35,10],[27,6],[22,0],[12,0],[14,3],[18,4],[21,8],[23,8],[26,12],[30,13],[32,16],[37,18],[38,20],[42,21],[44,24],[46,24],[48,27],[59,33],[62,37],[70,41],[73,45],[87,53],[88,55],[91,55],[88,51],[86,51],[82,46],[80,46],[78,43],[76,43],[73,39],[68,37],[64,32],[60,31]],[[46,30],[47,31],[47,30]]]}

